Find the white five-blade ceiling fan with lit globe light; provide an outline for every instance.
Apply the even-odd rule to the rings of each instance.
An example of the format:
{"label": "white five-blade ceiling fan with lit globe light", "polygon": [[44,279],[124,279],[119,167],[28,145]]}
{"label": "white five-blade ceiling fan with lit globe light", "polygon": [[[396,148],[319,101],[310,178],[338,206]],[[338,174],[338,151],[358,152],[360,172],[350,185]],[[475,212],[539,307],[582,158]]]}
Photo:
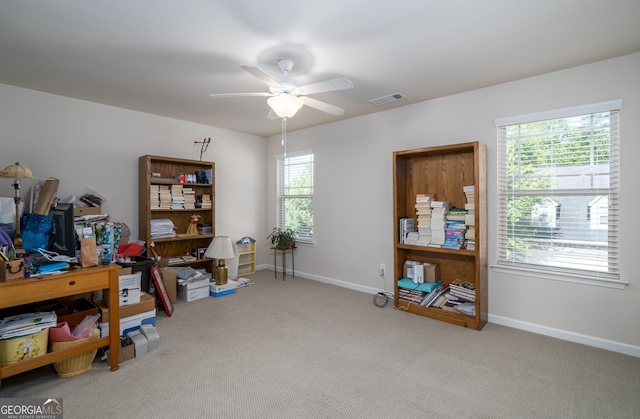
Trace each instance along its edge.
{"label": "white five-blade ceiling fan with lit globe light", "polygon": [[284,78],[274,79],[261,68],[250,65],[241,65],[240,68],[249,72],[253,76],[262,80],[269,86],[269,92],[254,93],[212,93],[211,97],[241,97],[241,96],[264,96],[269,97],[267,102],[271,107],[271,111],[267,118],[291,118],[302,107],[307,105],[319,111],[326,112],[333,116],[339,116],[344,113],[344,109],[317,99],[313,99],[308,95],[315,93],[332,92],[336,90],[351,89],[353,83],[346,78],[327,80],[319,83],[301,86],[295,80],[289,79],[288,75],[293,68],[293,61],[279,60],[278,66],[284,73]]}

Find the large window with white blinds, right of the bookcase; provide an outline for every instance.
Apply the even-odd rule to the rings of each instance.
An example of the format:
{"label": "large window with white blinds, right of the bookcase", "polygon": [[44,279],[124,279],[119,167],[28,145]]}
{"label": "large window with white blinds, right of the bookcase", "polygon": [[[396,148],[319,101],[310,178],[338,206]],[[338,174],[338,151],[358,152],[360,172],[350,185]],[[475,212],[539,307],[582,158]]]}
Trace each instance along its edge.
{"label": "large window with white blinds, right of the bookcase", "polygon": [[554,279],[620,280],[621,105],[496,120],[498,267]]}

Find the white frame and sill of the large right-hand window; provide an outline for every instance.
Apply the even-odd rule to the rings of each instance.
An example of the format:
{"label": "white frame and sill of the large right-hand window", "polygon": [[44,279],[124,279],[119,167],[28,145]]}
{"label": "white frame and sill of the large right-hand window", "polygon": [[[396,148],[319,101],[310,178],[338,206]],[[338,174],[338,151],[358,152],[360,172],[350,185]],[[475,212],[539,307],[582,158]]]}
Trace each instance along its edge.
{"label": "white frame and sill of the large right-hand window", "polygon": [[[497,141],[498,141],[498,182],[497,182],[497,203],[498,203],[498,228],[497,232],[497,253],[496,253],[496,262],[491,265],[491,268],[495,272],[507,273],[507,274],[515,274],[522,276],[532,276],[537,278],[545,278],[551,280],[560,280],[566,282],[574,282],[581,284],[589,284],[589,285],[598,285],[610,288],[619,288],[623,289],[625,285],[628,285],[627,281],[624,281],[620,277],[619,270],[616,270],[613,273],[591,273],[589,271],[580,272],[578,269],[570,269],[566,270],[559,267],[549,267],[537,265],[535,263],[526,263],[526,262],[514,262],[507,260],[504,255],[506,255],[507,250],[507,239],[506,239],[506,222],[507,222],[507,204],[503,201],[508,199],[510,195],[509,190],[507,188],[507,175],[506,175],[506,167],[508,160],[507,156],[507,147],[505,139],[503,138],[503,133],[501,130],[506,130],[508,126],[515,126],[526,124],[530,122],[539,122],[539,121],[548,121],[555,120],[561,118],[568,118],[574,116],[582,116],[582,115],[590,115],[594,113],[602,113],[602,112],[611,112],[612,113],[612,121],[611,121],[611,129],[610,129],[610,153],[612,162],[609,173],[611,174],[612,180],[611,186],[612,195],[615,196],[615,202],[612,205],[618,205],[617,208],[614,209],[616,213],[619,214],[619,195],[620,195],[620,110],[622,108],[622,100],[611,100],[607,102],[599,102],[589,105],[576,106],[570,108],[556,109],[526,115],[519,116],[511,116],[506,118],[497,118],[495,120],[496,130],[497,130]],[[616,124],[614,126],[614,124]],[[550,191],[553,188],[549,189]],[[586,194],[585,194],[586,195]],[[615,234],[617,234],[616,238],[612,242],[611,239],[608,241],[608,245],[611,243],[614,244],[614,248],[611,249],[611,252],[616,252],[618,255],[617,263],[619,266],[619,254],[620,254],[620,222],[618,220],[618,224],[615,227]]]}

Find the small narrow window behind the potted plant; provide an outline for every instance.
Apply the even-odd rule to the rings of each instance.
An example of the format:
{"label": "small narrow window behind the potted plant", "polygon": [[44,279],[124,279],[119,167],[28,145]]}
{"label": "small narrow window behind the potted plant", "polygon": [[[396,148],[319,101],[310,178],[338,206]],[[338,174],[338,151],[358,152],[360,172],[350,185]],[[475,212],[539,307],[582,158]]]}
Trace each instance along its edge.
{"label": "small narrow window behind the potted plant", "polygon": [[296,231],[297,243],[313,243],[313,152],[278,156],[278,210],[280,228]]}

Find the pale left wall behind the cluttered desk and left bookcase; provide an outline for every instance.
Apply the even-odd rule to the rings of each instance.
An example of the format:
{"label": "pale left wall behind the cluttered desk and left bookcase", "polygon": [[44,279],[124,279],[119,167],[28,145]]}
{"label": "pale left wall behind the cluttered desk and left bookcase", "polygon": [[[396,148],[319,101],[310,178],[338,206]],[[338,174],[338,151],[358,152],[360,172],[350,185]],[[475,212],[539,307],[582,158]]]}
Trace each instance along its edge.
{"label": "pale left wall behind the cluttered desk and left bookcase", "polygon": [[[0,168],[19,161],[36,177],[60,180],[58,197],[90,187],[104,212],[138,237],[138,157],[200,159],[195,140],[211,138],[203,160],[216,163],[216,233],[261,237],[264,137],[0,84]],[[0,179],[0,196],[13,196]],[[26,196],[34,181],[22,182]],[[265,255],[258,254],[258,258]]]}

